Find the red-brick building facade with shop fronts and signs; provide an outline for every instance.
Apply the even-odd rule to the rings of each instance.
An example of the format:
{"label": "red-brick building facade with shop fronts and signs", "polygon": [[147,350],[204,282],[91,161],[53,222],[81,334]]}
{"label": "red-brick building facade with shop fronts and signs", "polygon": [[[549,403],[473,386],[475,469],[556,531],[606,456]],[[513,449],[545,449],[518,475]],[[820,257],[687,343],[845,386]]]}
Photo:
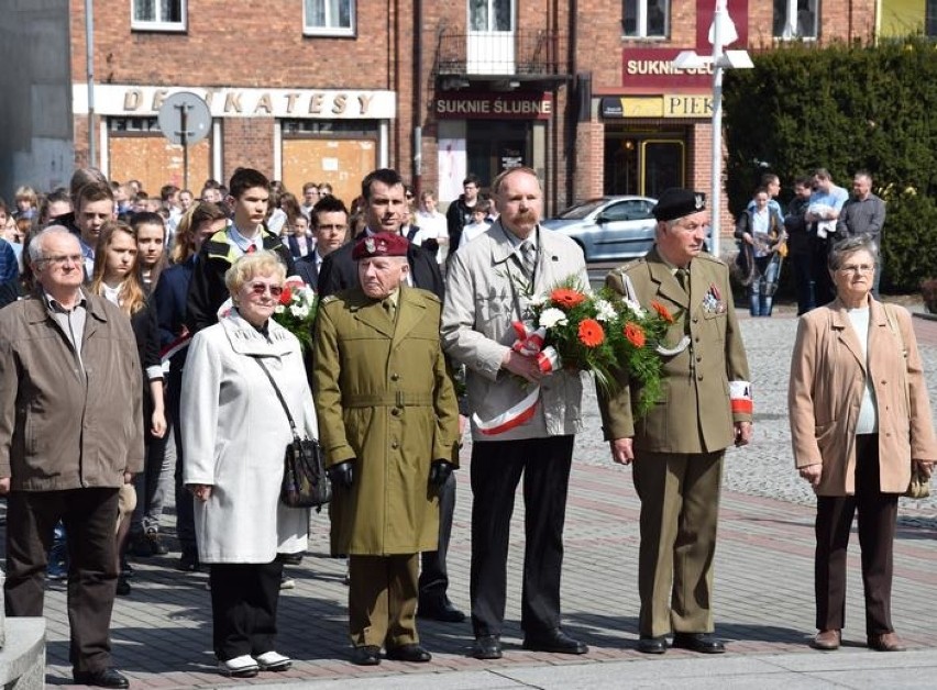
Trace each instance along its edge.
{"label": "red-brick building facade with shop fronts and signs", "polygon": [[[877,0],[727,4],[739,35],[728,47],[751,53],[796,37],[867,41],[877,30]],[[141,8],[158,14],[154,5],[178,14],[134,19]],[[708,189],[712,75],[671,63],[682,49],[712,52],[714,7],[278,0],[258,11],[221,0],[99,0],[95,163],[154,191],[181,186],[181,149],[161,136],[156,111],[187,90],[212,115],[208,137],[189,148],[196,192],[205,177],[227,179],[239,165],[294,191],[329,181],[346,200],[365,171],[387,165],[445,202],[468,171],[488,183],[523,164],[543,176],[549,212],[604,193]],[[84,8],[69,0],[78,165],[88,162]],[[348,12],[317,25],[323,8]]]}

